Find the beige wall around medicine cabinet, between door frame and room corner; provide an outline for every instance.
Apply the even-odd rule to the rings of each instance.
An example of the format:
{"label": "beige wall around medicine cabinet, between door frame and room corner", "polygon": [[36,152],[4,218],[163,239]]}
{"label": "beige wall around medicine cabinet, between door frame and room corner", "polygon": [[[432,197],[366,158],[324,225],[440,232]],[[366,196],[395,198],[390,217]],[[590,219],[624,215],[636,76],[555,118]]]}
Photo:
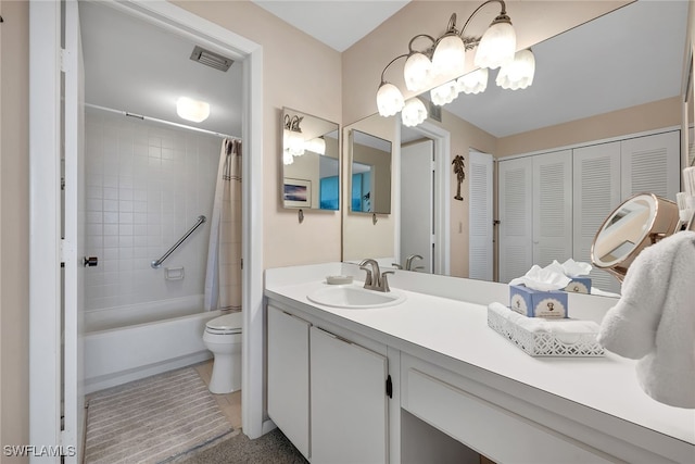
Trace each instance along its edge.
{"label": "beige wall around medicine cabinet, between door frame and room corner", "polygon": [[264,267],[340,261],[340,212],[280,204],[282,108],[341,123],[341,58],[250,1],[176,1],[263,46]]}

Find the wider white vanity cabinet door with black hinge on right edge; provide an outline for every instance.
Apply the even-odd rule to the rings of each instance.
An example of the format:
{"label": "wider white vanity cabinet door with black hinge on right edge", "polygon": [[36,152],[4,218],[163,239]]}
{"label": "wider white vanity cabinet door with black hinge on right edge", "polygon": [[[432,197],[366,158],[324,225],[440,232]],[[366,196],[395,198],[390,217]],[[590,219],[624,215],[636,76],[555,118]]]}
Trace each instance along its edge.
{"label": "wider white vanity cabinet door with black hinge on right edge", "polygon": [[384,463],[387,359],[311,328],[312,463]]}

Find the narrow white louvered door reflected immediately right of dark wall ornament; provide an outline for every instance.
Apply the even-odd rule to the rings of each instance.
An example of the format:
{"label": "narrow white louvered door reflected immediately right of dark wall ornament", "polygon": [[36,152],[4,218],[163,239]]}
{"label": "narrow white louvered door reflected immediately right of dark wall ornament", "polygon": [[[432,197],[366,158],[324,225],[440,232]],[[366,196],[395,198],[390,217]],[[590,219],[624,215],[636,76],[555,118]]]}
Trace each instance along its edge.
{"label": "narrow white louvered door reflected immediately right of dark wall ornament", "polygon": [[492,155],[471,150],[468,161],[468,277],[492,280]]}

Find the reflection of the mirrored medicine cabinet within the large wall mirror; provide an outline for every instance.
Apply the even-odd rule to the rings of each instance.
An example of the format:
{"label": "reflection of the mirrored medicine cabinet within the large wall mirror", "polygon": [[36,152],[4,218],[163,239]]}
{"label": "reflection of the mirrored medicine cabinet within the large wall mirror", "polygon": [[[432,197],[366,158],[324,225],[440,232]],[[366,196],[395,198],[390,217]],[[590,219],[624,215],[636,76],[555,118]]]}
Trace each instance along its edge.
{"label": "reflection of the mirrored medicine cabinet within the large wall mirror", "polygon": [[391,141],[350,130],[350,211],[391,213]]}

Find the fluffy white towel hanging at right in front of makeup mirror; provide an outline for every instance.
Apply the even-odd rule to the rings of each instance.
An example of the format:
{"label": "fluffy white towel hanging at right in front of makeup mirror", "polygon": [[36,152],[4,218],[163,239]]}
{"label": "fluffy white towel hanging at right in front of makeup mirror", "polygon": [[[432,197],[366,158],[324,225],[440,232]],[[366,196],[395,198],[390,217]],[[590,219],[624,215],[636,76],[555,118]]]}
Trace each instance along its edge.
{"label": "fluffy white towel hanging at right in front of makeup mirror", "polygon": [[637,380],[648,396],[695,407],[695,233],[679,231],[637,255],[598,341],[640,360]]}

